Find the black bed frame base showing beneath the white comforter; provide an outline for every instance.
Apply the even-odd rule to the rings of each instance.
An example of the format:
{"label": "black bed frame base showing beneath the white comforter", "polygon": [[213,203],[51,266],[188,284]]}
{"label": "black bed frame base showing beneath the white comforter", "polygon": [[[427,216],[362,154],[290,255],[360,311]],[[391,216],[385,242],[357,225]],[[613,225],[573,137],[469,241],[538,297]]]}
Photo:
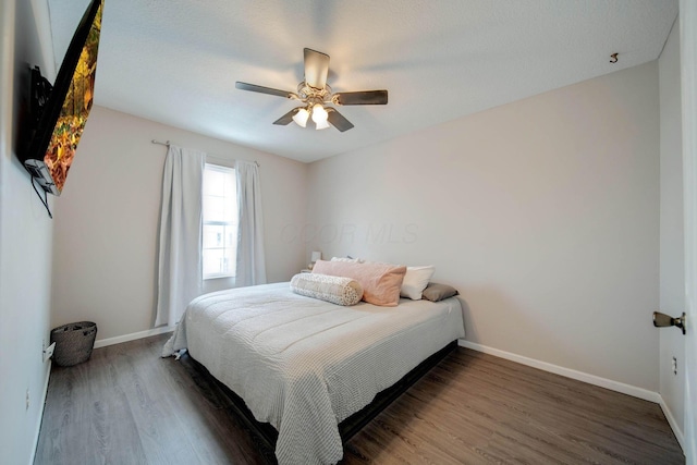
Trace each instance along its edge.
{"label": "black bed frame base showing beneath the white comforter", "polygon": [[[438,365],[450,352],[457,346],[457,341],[452,341],[440,351],[421,362],[416,368],[407,372],[402,379],[395,382],[392,387],[379,392],[372,402],[366,405],[363,409],[351,415],[339,424],[339,433],[342,442],[345,444],[356,432],[358,432],[364,426],[370,423],[376,416],[388,407],[396,397],[404,393],[412,384],[418,381],[424,375],[426,375],[431,368]],[[235,413],[237,419],[241,420],[241,426],[250,433],[250,437],[259,452],[264,455],[267,462],[276,463],[276,441],[278,439],[278,431],[268,423],[259,423],[254,418],[252,412],[247,408],[242,397],[235,394],[230,388],[218,381],[201,364],[196,362],[193,357],[186,353],[181,358],[182,364],[191,372],[194,381],[204,391],[209,391],[209,400],[215,403],[219,403],[220,399],[212,391],[218,391],[229,402],[227,406],[231,407]],[[211,389],[212,388],[212,389]],[[206,393],[204,393],[206,394]]]}

